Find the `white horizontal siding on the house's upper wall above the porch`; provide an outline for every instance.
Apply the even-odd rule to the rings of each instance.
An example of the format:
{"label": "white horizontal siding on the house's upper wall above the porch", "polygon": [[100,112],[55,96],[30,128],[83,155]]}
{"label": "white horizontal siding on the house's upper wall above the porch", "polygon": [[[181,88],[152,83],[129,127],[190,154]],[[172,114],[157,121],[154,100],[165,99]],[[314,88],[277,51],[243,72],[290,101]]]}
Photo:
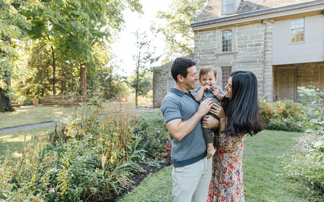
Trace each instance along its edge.
{"label": "white horizontal siding on the house's upper wall above the porch", "polygon": [[[295,19],[295,18],[292,18]],[[290,20],[275,20],[272,36],[272,64],[324,61],[324,16],[305,17],[305,43],[290,43]]]}

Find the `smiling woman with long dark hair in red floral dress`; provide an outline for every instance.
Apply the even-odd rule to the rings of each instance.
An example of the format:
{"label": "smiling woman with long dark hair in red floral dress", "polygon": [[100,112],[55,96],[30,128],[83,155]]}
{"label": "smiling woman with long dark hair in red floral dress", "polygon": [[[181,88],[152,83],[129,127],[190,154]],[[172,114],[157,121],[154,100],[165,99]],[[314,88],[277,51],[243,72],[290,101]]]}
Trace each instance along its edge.
{"label": "smiling woman with long dark hair in red floral dress", "polygon": [[[218,134],[214,137],[217,152],[213,157],[209,201],[244,201],[243,142],[263,129],[259,121],[258,83],[250,71],[230,74],[221,104],[210,112],[219,118]],[[208,123],[204,122],[203,123]],[[204,125],[204,124],[203,124]]]}

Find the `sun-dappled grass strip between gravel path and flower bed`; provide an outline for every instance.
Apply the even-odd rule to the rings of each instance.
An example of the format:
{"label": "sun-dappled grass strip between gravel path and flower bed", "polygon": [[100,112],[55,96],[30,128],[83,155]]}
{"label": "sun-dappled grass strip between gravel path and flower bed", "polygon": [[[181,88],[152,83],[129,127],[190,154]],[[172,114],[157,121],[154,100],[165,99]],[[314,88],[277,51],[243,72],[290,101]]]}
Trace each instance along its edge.
{"label": "sun-dappled grass strip between gravel path and flower bed", "polygon": [[[44,128],[30,129],[27,131],[26,143],[31,146],[37,146],[36,140],[31,139],[31,135],[36,135],[41,138],[41,141],[45,141],[47,134],[46,132],[53,129],[54,126],[48,126]],[[18,131],[14,133],[6,133],[0,135],[0,157],[6,154],[7,145],[9,150],[12,151],[13,157],[17,158],[22,154],[22,146],[24,143],[26,131]]]}

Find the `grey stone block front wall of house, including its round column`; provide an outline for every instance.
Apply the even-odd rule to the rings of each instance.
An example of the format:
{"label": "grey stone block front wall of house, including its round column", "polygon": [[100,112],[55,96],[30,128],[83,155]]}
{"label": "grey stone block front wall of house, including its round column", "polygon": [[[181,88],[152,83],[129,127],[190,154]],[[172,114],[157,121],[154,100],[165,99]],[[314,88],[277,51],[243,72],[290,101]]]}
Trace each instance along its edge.
{"label": "grey stone block front wall of house, including its round column", "polygon": [[[250,70],[258,79],[259,97],[268,95],[272,101],[272,24],[273,20],[265,20],[195,31],[197,70],[206,65],[215,67],[218,75],[222,67],[232,67],[232,72]],[[232,30],[231,53],[222,53],[222,32],[226,30]],[[221,77],[217,84],[221,84]]]}

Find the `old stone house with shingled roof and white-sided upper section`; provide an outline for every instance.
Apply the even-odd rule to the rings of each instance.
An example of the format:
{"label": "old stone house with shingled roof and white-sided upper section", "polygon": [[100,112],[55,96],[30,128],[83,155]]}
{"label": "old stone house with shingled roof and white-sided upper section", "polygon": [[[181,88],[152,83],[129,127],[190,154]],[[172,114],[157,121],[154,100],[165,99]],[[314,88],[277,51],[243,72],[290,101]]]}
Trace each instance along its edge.
{"label": "old stone house with shingled roof and white-sided upper section", "polygon": [[[210,0],[191,24],[196,68],[214,66],[222,87],[231,72],[250,70],[259,97],[298,101],[298,86],[324,88],[323,11],[323,0]],[[159,107],[171,81],[159,74],[153,81]]]}

